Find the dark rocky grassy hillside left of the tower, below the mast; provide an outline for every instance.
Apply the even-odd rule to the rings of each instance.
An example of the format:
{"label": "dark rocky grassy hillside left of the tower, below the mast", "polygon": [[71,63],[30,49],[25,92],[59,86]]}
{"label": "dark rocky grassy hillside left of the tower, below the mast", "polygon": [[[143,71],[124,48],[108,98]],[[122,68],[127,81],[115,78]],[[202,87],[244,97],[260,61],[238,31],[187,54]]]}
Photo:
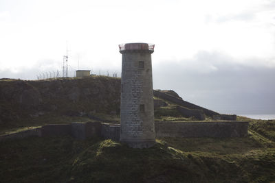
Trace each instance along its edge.
{"label": "dark rocky grassy hillside left of the tower, below the mast", "polygon": [[47,123],[92,121],[120,113],[120,78],[0,80],[0,133]]}

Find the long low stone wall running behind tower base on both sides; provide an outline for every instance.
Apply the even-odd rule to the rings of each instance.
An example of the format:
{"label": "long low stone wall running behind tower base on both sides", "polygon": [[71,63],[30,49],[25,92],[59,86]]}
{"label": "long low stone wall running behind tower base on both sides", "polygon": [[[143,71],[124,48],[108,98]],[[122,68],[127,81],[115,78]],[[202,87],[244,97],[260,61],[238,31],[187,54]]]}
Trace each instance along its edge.
{"label": "long low stone wall running behind tower base on both sides", "polygon": [[[0,136],[0,141],[8,138],[24,138],[28,136],[61,136],[72,135],[77,139],[94,136],[120,140],[120,124],[110,123],[72,123],[63,125],[45,125],[32,130]],[[248,136],[248,122],[215,121],[215,122],[155,122],[155,136],[160,137],[212,137],[229,138]]]}

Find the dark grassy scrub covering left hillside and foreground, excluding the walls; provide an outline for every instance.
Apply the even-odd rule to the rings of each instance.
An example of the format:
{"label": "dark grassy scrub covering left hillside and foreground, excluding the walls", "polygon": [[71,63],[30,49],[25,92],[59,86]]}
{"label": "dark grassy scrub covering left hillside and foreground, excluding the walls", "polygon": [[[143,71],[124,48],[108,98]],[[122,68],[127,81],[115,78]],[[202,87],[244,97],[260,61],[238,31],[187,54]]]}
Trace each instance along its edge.
{"label": "dark grassy scrub covering left hillside and foreground, excluding the walls", "polygon": [[[118,78],[0,80],[0,86],[0,135],[49,123],[120,121]],[[155,120],[195,119],[168,103],[155,109]],[[247,137],[159,138],[148,149],[71,136],[0,141],[0,182],[274,182],[275,121],[237,121],[250,121]]]}

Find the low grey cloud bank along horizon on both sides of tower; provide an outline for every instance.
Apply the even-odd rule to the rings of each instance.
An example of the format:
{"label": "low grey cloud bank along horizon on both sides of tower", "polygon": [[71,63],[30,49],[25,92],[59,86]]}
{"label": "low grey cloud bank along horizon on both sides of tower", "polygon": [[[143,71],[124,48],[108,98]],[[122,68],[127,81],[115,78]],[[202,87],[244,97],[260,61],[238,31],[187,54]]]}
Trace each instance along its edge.
{"label": "low grey cloud bank along horizon on both sides of tower", "polygon": [[[274,58],[270,58],[274,60]],[[153,60],[153,88],[175,90],[183,99],[221,113],[269,114],[275,112],[275,64],[261,58],[236,60],[219,51],[199,51],[185,60]],[[119,64],[118,64],[119,65]],[[36,80],[50,77],[58,64],[40,60],[31,67],[0,69],[1,77]],[[89,68],[88,68],[89,69]],[[62,74],[61,69],[58,69]],[[69,66],[69,76],[76,69]],[[112,76],[120,69],[94,68],[92,73]],[[56,74],[56,73],[55,73]]]}

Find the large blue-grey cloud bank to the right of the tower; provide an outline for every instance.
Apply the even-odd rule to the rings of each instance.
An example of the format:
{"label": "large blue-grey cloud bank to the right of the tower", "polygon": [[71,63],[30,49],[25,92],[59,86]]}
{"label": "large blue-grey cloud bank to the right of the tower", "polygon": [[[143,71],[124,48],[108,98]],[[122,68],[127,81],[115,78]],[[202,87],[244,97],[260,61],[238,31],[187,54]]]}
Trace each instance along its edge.
{"label": "large blue-grey cloud bank to the right of the tower", "polygon": [[221,53],[202,51],[192,60],[153,69],[154,88],[173,89],[200,106],[235,114],[275,112],[275,68],[239,64]]}

